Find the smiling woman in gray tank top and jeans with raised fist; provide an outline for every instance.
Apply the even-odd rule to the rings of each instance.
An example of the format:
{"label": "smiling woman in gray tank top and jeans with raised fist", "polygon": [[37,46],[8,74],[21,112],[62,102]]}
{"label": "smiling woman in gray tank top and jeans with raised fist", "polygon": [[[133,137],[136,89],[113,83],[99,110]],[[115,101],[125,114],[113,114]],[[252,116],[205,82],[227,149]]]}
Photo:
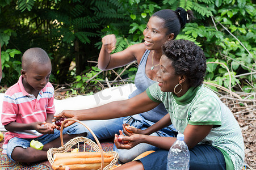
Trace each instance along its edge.
{"label": "smiling woman in gray tank top and jeans with raised fist", "polygon": [[[136,90],[129,95],[129,98],[141,94],[151,84],[156,83],[156,73],[160,69],[160,58],[162,56],[161,46],[167,40],[174,40],[181,31],[181,28],[194,18],[192,11],[185,11],[183,8],[177,10],[160,10],[154,13],[143,32],[144,42],[129,46],[127,49],[110,54],[115,49],[115,35],[107,35],[102,39],[102,48],[98,58],[98,67],[101,70],[110,70],[116,67],[121,67],[137,61],[139,64],[136,77]],[[117,106],[118,107],[118,106]],[[133,129],[135,133],[141,131],[147,135],[175,137],[177,131],[173,125],[163,127],[152,133],[146,129],[161,120],[167,111],[163,104],[152,109],[151,111],[136,114],[129,117],[120,117],[112,120],[97,120],[84,121],[87,126],[95,133],[98,139],[114,137],[115,133],[119,133],[119,129],[123,129],[123,124],[129,124],[137,129]],[[89,131],[88,131],[89,133]],[[128,134],[129,135],[129,134]],[[90,139],[94,139],[89,133]],[[152,145],[141,143],[131,150],[119,150],[114,147],[114,150],[119,153],[119,160],[123,163],[129,162],[148,150],[157,150],[158,148]]]}

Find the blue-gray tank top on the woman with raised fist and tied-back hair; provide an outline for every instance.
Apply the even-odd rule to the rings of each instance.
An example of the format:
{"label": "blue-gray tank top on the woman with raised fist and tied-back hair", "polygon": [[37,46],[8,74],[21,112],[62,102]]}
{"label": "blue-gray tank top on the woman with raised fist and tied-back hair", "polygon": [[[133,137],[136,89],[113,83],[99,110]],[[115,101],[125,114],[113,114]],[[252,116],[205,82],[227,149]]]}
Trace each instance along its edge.
{"label": "blue-gray tank top on the woman with raised fist and tied-back hair", "polygon": [[[131,95],[129,95],[130,98],[141,94],[150,85],[156,83],[154,80],[148,78],[145,71],[146,61],[148,59],[149,53],[150,53],[150,50],[146,50],[141,58],[141,61],[137,70],[137,74],[135,76],[135,86],[137,87],[137,89],[133,91]],[[152,109],[151,111],[140,113],[140,115],[144,117],[145,120],[148,120],[151,122],[159,121],[166,114],[167,114],[167,111],[163,103],[159,104],[156,108]]]}

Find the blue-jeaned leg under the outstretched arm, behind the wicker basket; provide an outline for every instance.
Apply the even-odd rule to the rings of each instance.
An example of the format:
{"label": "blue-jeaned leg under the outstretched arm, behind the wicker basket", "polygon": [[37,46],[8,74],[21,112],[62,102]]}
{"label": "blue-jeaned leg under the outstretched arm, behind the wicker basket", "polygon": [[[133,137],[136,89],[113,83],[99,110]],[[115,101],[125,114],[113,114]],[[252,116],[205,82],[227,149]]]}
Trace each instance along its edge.
{"label": "blue-jeaned leg under the outstretched arm, behind the wicker basket", "polygon": [[[123,117],[112,118],[109,120],[90,120],[82,122],[93,131],[98,139],[114,137],[115,134],[119,134],[119,129],[123,129]],[[95,141],[90,131],[86,129],[86,132],[89,134],[87,138]]]}

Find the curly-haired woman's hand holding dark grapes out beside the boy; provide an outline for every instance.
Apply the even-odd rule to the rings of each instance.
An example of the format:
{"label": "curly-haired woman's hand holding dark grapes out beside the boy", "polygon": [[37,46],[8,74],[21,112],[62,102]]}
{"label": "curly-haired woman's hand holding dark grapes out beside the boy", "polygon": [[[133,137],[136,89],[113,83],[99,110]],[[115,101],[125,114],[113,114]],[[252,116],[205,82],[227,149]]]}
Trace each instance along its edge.
{"label": "curly-haired woman's hand holding dark grapes out beside the boy", "polygon": [[[61,117],[63,118],[74,118],[76,120],[78,120],[77,118],[77,115],[75,114],[75,111],[68,111],[68,110],[65,110],[65,111],[62,111],[61,113],[57,114],[57,115],[54,115],[55,118],[53,118],[52,122],[55,122],[55,121],[58,121],[60,120]],[[74,124],[75,121],[66,121],[65,124],[64,124],[64,128]],[[56,126],[56,129],[60,129],[60,126]]]}

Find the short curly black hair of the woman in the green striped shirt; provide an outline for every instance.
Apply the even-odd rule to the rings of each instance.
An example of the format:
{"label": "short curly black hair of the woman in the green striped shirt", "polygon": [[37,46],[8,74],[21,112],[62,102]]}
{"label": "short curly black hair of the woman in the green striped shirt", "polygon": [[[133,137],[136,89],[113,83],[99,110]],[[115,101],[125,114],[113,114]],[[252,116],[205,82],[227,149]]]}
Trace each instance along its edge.
{"label": "short curly black hair of the woman in the green striped shirt", "polygon": [[204,81],[206,58],[203,50],[188,40],[170,40],[162,46],[163,55],[171,59],[175,74],[186,75],[192,87]]}

